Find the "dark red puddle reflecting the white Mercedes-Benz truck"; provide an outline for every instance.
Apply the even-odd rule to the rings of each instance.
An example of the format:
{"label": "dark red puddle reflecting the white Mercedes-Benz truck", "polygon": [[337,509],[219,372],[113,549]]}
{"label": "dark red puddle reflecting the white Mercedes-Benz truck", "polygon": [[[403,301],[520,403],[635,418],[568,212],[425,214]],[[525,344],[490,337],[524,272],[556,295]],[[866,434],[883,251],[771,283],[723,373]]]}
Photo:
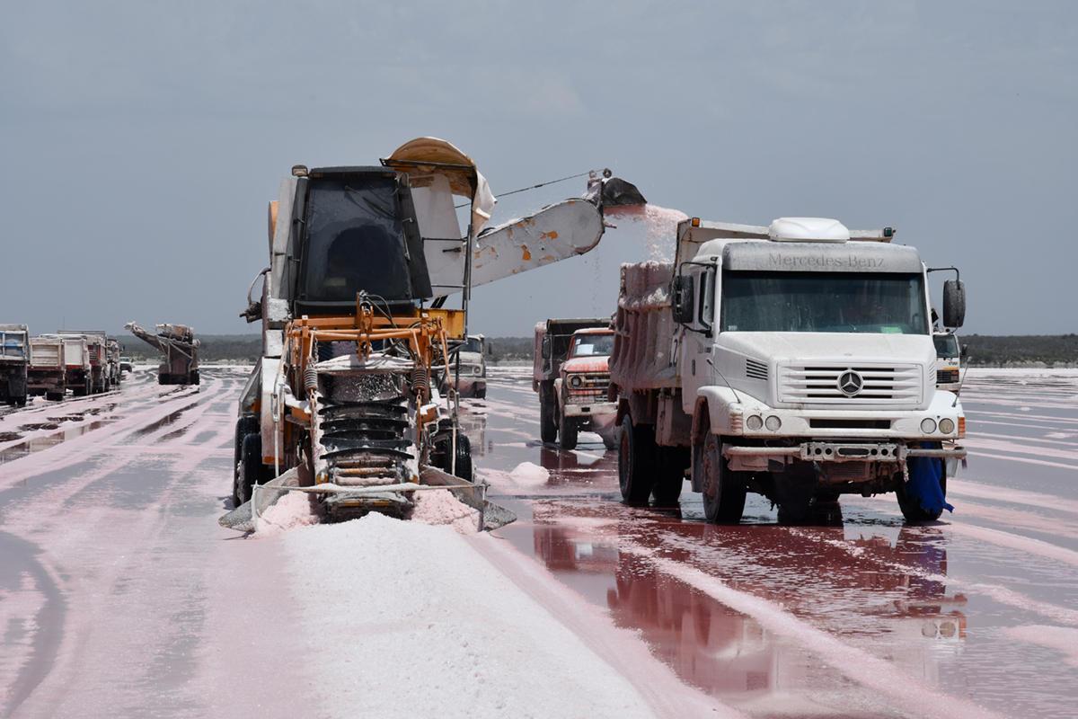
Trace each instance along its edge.
{"label": "dark red puddle reflecting the white Mercedes-Benz truck", "polygon": [[931,686],[939,662],[960,651],[966,636],[958,609],[966,599],[946,596],[946,540],[938,529],[902,527],[893,543],[846,539],[841,526],[720,527],[657,521],[654,512],[626,518],[559,500],[537,502],[535,517],[531,549],[558,580],[639,632],[683,681],[723,701],[826,692],[820,682],[841,692],[844,680],[823,678],[811,648],[661,571],[652,553],[775,600]]}

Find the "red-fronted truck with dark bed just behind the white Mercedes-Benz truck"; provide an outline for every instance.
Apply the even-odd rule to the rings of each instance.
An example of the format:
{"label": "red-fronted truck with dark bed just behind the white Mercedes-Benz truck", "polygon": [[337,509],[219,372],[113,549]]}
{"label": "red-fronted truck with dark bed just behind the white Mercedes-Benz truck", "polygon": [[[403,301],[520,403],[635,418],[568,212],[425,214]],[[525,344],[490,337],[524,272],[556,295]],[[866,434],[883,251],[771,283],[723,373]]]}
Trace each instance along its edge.
{"label": "red-fronted truck with dark bed just behind the white Mercedes-Benz truck", "polygon": [[577,446],[580,430],[594,431],[613,446],[617,403],[607,399],[613,346],[608,318],[548,319],[535,329],[531,389],[539,392],[539,434]]}

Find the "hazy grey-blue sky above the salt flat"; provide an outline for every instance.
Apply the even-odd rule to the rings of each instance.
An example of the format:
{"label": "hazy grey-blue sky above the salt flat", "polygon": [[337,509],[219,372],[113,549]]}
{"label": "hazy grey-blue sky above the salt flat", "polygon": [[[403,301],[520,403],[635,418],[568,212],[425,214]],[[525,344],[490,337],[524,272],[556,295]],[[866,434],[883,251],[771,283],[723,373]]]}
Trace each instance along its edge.
{"label": "hazy grey-blue sky above the salt flat", "polygon": [[[254,330],[237,315],[280,177],[423,135],[495,194],[610,167],[705,219],[892,225],[960,267],[965,332],[1076,331],[1072,2],[39,1],[3,18],[0,322],[36,333]],[[645,253],[613,239],[476,290],[471,329],[608,314],[618,263]]]}

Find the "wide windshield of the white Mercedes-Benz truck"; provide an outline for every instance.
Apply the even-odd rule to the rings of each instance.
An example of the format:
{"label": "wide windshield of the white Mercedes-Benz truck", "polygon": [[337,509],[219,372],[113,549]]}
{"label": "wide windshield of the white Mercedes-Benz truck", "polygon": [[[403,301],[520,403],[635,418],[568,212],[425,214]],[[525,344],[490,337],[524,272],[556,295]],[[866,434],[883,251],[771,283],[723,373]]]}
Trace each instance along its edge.
{"label": "wide windshield of the white Mercedes-Benz truck", "polygon": [[928,334],[918,274],[725,271],[720,313],[722,332]]}

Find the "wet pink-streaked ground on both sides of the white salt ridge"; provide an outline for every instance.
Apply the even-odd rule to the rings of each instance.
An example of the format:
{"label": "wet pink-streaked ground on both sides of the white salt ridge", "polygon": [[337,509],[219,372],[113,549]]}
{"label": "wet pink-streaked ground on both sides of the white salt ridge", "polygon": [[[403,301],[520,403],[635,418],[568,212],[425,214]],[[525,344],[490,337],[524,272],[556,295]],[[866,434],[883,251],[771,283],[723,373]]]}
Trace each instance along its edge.
{"label": "wet pink-streaked ground on both sides of the white salt ridge", "polygon": [[[142,369],[120,391],[0,412],[0,717],[227,716],[218,693],[303,716],[270,660],[286,639],[236,621],[287,603],[272,544],[216,523],[246,373],[177,388]],[[893,496],[801,526],[751,495],[740,526],[707,525],[689,493],[627,507],[597,435],[538,442],[525,370],[495,371],[464,421],[492,498],[521,517],[496,536],[745,716],[1073,717],[1078,373],[966,382],[969,466],[954,514],[926,526]]]}

